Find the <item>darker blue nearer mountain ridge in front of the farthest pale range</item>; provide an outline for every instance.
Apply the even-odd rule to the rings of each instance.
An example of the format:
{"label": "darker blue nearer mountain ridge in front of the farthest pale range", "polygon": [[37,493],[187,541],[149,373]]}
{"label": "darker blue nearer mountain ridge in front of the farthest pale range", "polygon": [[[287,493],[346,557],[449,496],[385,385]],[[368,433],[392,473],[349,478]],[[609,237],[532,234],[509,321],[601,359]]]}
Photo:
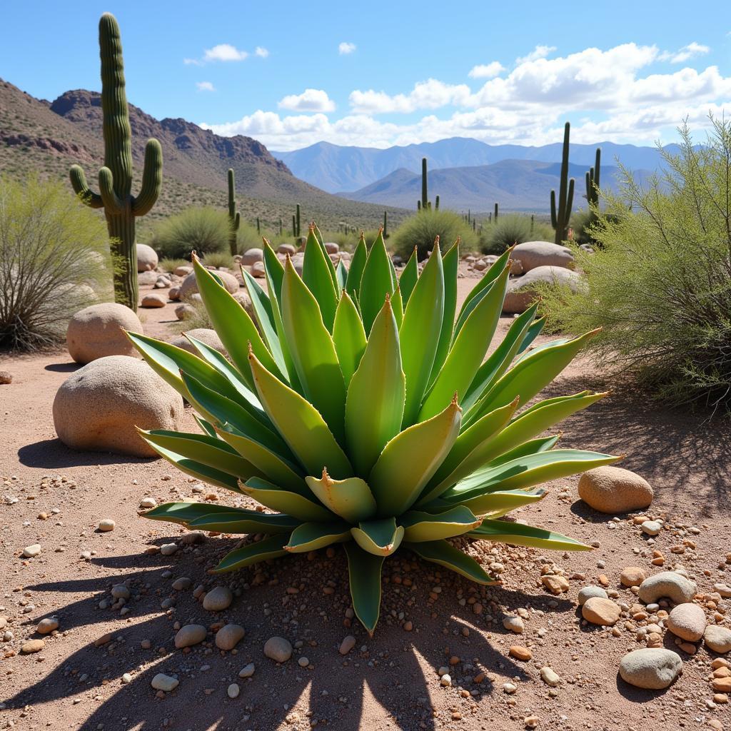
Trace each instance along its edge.
{"label": "darker blue nearer mountain ridge in front of the farthest pale range", "polygon": [[[635,170],[637,181],[646,180],[651,171]],[[569,164],[569,175],[576,179],[574,208],[586,205],[586,165]],[[602,187],[616,189],[618,168],[602,165]],[[558,190],[561,163],[536,160],[501,160],[492,165],[449,167],[428,173],[429,200],[439,194],[439,205],[457,211],[482,213],[498,202],[507,211],[543,213],[550,210],[550,189]],[[401,208],[417,206],[421,197],[421,173],[401,167],[371,185],[343,197],[368,203],[390,202]]]}

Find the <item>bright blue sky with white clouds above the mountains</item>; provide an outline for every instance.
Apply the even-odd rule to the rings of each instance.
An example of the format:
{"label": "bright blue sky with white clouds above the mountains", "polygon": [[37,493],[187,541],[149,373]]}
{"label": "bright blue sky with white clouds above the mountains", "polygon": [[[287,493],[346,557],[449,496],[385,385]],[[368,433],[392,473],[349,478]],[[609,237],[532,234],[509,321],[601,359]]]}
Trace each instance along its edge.
{"label": "bright blue sky with white clouds above the mountains", "polygon": [[[97,22],[119,20],[127,94],[272,149],[443,137],[670,141],[731,113],[727,5],[654,0],[13,2],[0,77],[34,96],[99,89]],[[548,10],[548,12],[546,12]],[[700,7],[699,7],[700,10]]]}

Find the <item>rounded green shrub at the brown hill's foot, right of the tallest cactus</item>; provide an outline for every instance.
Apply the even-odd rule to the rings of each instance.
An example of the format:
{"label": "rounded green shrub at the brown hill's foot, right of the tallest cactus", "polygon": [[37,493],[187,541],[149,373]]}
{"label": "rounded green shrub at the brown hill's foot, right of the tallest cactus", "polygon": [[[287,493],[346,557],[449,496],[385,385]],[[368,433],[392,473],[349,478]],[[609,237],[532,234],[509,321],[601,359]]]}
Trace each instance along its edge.
{"label": "rounded green shrub at the brown hill's foot, right of the tallest cactus", "polygon": [[187,259],[191,251],[208,254],[228,248],[229,220],[216,208],[186,208],[156,225],[151,246],[160,257]]}

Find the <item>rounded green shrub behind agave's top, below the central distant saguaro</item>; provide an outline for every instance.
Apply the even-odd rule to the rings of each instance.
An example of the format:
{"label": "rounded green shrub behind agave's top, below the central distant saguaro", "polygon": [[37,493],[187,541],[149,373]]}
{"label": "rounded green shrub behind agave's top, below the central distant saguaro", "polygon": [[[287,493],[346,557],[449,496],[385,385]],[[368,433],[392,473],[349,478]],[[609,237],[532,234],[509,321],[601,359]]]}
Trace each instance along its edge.
{"label": "rounded green shrub behind agave's top, below the central distant saguaro", "polygon": [[[470,224],[462,216],[454,211],[447,211],[440,208],[438,211],[430,209],[420,211],[409,216],[398,229],[393,232],[390,244],[395,254],[402,259],[408,259],[414,246],[420,260],[427,256],[428,251],[434,245],[434,239],[439,236],[442,251],[445,251],[458,237],[461,237],[461,251],[470,251],[477,247],[477,234],[472,230]],[[373,239],[366,236],[370,245]]]}

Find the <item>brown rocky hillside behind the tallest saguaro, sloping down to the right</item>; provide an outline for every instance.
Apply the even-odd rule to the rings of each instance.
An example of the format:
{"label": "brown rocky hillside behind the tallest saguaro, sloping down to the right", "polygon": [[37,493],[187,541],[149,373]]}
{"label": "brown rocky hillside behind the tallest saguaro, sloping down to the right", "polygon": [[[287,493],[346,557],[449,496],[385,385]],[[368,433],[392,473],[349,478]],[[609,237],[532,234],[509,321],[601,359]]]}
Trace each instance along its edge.
{"label": "brown rocky hillside behind the tallest saguaro, sloping down to the right", "polygon": [[[78,162],[94,181],[104,159],[100,101],[96,92],[78,89],[47,102],[0,79],[0,169],[14,176],[38,170],[67,178],[69,166]],[[188,205],[223,208],[229,167],[236,173],[238,207],[249,221],[258,216],[273,228],[281,217],[289,230],[298,202],[306,220],[316,219],[326,228],[336,228],[339,221],[363,227],[382,221],[382,205],[346,200],[300,181],[251,137],[219,137],[183,119],[157,120],[134,105],[129,117],[135,189],[148,138],[156,137],[163,152],[162,195],[151,215],[141,219],[143,231],[154,219]],[[396,224],[406,211],[390,208],[389,215]]]}

